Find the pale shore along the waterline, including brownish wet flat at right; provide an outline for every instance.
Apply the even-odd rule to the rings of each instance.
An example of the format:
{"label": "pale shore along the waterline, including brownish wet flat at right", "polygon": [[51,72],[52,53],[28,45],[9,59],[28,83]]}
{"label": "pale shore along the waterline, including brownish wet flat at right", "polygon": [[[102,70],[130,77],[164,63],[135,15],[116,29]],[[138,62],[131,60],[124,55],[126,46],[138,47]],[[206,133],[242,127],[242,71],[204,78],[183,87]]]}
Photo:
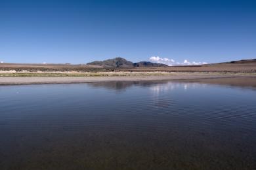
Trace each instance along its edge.
{"label": "pale shore along the waterline, including brownish wet flat at right", "polygon": [[[221,78],[221,81],[220,79]],[[234,79],[235,78],[235,79]],[[243,79],[245,78],[245,79]],[[218,80],[219,79],[219,80]],[[47,77],[0,77],[0,85],[18,84],[70,84],[84,82],[116,82],[116,81],[160,81],[184,80],[190,82],[209,82],[216,84],[250,84],[256,86],[255,75],[215,75],[215,74],[177,74],[149,76],[47,76]]]}

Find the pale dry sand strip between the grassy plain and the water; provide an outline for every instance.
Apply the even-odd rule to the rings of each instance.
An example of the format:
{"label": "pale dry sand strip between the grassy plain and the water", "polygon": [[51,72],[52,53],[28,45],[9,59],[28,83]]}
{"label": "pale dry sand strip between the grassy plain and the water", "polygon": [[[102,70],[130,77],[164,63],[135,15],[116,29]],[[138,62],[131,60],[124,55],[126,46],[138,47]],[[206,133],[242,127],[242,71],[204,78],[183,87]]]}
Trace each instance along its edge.
{"label": "pale dry sand strip between the grassy plain and the water", "polygon": [[14,84],[68,84],[83,82],[115,82],[115,81],[160,81],[160,80],[200,80],[210,78],[251,77],[255,75],[150,75],[150,76],[53,76],[53,77],[0,77],[0,85]]}

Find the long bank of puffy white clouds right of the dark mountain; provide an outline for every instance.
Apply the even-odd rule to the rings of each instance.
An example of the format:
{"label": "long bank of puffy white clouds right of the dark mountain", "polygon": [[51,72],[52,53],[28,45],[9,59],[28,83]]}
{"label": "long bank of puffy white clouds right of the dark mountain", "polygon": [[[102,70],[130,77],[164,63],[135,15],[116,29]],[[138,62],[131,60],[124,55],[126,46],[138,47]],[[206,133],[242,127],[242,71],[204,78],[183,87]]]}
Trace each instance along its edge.
{"label": "long bank of puffy white clouds right of the dark mountain", "polygon": [[173,65],[201,65],[201,64],[207,64],[206,62],[196,62],[196,61],[188,61],[185,59],[183,62],[176,62],[174,59],[169,59],[169,58],[160,58],[158,56],[152,56],[149,59],[153,63],[163,63],[169,66]]}

